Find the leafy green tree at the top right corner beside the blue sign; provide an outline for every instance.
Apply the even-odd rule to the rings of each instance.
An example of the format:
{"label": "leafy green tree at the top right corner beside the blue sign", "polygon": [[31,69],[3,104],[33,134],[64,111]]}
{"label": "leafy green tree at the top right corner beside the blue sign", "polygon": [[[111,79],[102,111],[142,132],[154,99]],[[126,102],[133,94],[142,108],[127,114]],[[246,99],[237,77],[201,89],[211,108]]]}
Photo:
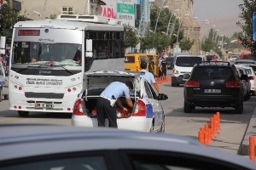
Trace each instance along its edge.
{"label": "leafy green tree at the top right corner beside the blue sign", "polygon": [[237,26],[241,27],[238,39],[244,48],[249,48],[251,53],[256,55],[256,42],[253,42],[253,12],[256,11],[255,0],[243,0],[243,4],[239,5],[241,14],[240,21],[236,22]]}

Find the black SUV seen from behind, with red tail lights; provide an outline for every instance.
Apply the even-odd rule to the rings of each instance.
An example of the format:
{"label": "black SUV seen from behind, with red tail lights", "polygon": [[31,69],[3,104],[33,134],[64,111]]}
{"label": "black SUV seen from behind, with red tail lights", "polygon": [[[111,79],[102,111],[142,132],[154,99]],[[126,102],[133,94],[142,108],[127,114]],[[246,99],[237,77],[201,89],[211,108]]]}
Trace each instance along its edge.
{"label": "black SUV seen from behind, with red tail lights", "polygon": [[194,66],[184,86],[184,112],[199,107],[233,107],[236,113],[243,110],[243,86],[235,65],[221,61],[203,61]]}

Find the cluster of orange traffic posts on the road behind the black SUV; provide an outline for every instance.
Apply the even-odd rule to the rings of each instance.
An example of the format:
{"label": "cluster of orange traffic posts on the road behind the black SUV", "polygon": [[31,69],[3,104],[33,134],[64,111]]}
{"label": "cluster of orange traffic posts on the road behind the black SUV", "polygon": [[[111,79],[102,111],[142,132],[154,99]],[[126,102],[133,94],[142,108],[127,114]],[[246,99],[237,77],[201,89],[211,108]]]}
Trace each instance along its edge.
{"label": "cluster of orange traffic posts on the road behind the black SUV", "polygon": [[200,127],[200,130],[198,132],[198,140],[202,144],[209,144],[209,142],[212,142],[212,138],[215,138],[215,133],[218,133],[218,130],[220,130],[220,118],[219,118],[219,112],[216,112],[211,118],[210,121],[205,124],[204,127]]}

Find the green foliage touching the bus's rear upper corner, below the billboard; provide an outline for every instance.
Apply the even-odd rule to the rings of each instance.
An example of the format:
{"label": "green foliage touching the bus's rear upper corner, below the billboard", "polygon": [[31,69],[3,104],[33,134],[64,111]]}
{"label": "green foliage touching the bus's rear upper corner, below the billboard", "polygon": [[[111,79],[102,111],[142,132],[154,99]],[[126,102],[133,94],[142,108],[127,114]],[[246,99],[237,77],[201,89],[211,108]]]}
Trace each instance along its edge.
{"label": "green foliage touching the bus's rear upper corner, below the billboard", "polygon": [[138,42],[134,30],[130,26],[125,26],[125,48],[135,48]]}

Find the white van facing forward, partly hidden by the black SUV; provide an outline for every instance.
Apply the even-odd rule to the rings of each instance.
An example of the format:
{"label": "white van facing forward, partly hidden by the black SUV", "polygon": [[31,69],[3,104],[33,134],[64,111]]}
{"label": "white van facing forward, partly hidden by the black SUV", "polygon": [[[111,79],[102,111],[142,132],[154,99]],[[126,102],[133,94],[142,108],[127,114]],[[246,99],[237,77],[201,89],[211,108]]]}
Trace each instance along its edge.
{"label": "white van facing forward, partly hidden by the black SUV", "polygon": [[184,84],[186,81],[183,81],[183,74],[190,74],[195,64],[206,60],[205,55],[177,55],[172,71],[172,87]]}

